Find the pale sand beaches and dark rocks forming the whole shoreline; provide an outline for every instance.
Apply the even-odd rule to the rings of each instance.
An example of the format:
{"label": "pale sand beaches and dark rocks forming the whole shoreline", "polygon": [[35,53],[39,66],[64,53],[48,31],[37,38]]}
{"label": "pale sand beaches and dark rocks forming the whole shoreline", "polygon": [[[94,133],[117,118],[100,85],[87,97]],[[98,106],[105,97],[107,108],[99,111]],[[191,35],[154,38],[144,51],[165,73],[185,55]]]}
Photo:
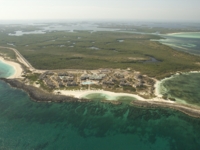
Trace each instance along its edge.
{"label": "pale sand beaches and dark rocks forming the whole shoreline", "polygon": [[[131,101],[130,105],[138,106],[138,107],[147,107],[147,108],[157,108],[157,107],[164,107],[164,108],[171,108],[178,111],[181,111],[189,116],[200,118],[200,107],[198,106],[191,106],[187,104],[181,104],[170,100],[164,100],[162,98],[162,95],[159,93],[159,84],[163,82],[163,80],[168,80],[170,78],[173,78],[175,75],[179,75],[178,73],[164,78],[163,80],[156,80],[156,83],[154,84],[155,91],[154,94],[156,97],[152,99],[145,99],[140,97],[136,94],[129,94],[129,93],[115,93],[110,91],[104,91],[104,90],[54,90],[53,93],[49,93],[46,91],[43,91],[41,88],[26,85],[20,80],[16,80],[16,78],[22,78],[21,74],[23,72],[23,69],[21,68],[20,64],[12,61],[5,60],[4,58],[0,57],[0,61],[12,66],[15,69],[14,75],[8,77],[7,79],[1,79],[11,85],[14,88],[22,89],[25,92],[28,93],[30,98],[33,101],[36,102],[88,102],[91,101],[89,99],[84,98],[84,96],[88,94],[105,94],[109,99],[103,100],[106,102],[111,102],[112,104],[115,104],[116,99],[113,99],[114,97],[118,96],[130,96],[137,100]],[[189,73],[199,73],[200,71],[190,71]],[[182,72],[180,72],[182,73]],[[184,73],[183,73],[184,74]],[[59,92],[59,94],[58,94]],[[113,97],[113,98],[112,98]],[[102,101],[102,102],[103,102]]]}

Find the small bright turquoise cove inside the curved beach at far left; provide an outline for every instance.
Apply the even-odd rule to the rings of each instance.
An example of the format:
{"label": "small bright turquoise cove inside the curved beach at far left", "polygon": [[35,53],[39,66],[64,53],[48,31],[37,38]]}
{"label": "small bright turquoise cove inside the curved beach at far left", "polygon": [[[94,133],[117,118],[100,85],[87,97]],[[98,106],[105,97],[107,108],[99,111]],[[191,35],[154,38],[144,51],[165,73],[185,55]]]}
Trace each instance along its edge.
{"label": "small bright turquoise cove inside the curved beach at far left", "polygon": [[0,61],[0,77],[9,77],[15,73],[15,69]]}

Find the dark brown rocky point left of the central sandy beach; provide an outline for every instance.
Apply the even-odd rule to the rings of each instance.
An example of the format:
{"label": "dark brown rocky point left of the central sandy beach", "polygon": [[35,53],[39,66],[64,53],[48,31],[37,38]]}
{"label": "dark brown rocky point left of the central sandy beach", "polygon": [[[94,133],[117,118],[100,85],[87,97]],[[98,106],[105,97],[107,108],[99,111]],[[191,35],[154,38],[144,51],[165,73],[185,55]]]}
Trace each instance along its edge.
{"label": "dark brown rocky point left of the central sandy beach", "polygon": [[43,91],[32,85],[25,85],[17,79],[5,79],[0,78],[0,80],[10,84],[10,86],[18,89],[22,89],[27,92],[30,98],[37,102],[85,102],[89,101],[86,99],[78,99],[70,96],[55,95],[46,91]]}

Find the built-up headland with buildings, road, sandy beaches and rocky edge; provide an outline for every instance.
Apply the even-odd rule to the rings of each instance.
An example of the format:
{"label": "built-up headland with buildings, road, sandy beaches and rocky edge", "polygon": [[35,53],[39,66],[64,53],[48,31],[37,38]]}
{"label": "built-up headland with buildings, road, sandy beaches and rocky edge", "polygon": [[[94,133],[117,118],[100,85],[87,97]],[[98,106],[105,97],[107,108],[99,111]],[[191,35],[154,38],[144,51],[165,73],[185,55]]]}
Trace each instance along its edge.
{"label": "built-up headland with buildings, road, sandy beaches and rocky edge", "polygon": [[[176,103],[175,99],[162,98],[156,93],[158,80],[142,75],[140,72],[127,69],[102,68],[97,70],[37,70],[20,55],[12,50],[16,59],[12,62],[8,57],[1,61],[14,67],[16,73],[8,79],[1,80],[12,87],[23,89],[37,102],[87,102],[84,96],[92,93],[107,94],[110,97],[129,96],[133,100],[130,105],[137,107],[164,107],[181,111],[192,117],[200,117],[197,106]],[[119,105],[120,100],[108,98],[102,102]]]}

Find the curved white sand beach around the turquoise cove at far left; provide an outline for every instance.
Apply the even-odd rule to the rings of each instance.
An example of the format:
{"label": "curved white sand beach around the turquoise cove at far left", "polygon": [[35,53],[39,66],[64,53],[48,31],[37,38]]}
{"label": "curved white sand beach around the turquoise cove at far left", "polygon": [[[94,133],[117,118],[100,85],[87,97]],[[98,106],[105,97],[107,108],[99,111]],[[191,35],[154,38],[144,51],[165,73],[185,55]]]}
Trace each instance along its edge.
{"label": "curved white sand beach around the turquoise cove at far left", "polygon": [[20,66],[20,64],[18,64],[16,62],[5,60],[3,57],[0,57],[0,61],[2,61],[5,64],[12,66],[15,69],[15,73],[12,76],[8,77],[9,79],[22,78],[21,75],[22,75],[23,69]]}

